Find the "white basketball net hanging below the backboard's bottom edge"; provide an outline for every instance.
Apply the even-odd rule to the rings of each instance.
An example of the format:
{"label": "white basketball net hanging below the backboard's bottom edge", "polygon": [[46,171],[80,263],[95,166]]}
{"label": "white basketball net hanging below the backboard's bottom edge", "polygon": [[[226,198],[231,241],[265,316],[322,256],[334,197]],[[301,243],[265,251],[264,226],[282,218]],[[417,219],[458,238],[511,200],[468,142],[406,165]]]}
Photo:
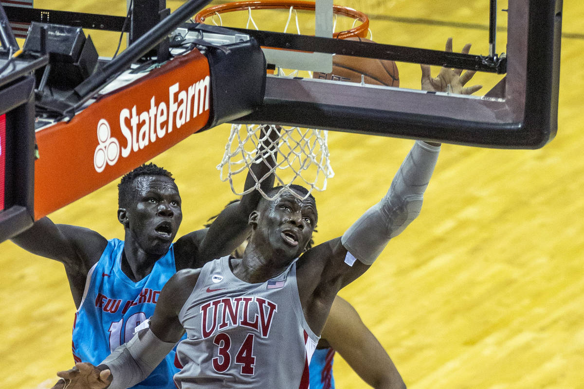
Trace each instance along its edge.
{"label": "white basketball net hanging below the backboard's bottom edge", "polygon": [[[223,160],[217,165],[217,169],[220,171],[221,181],[229,181],[234,194],[244,195],[258,190],[263,197],[273,200],[281,192],[289,189],[291,184],[307,188],[308,193],[304,197],[297,194],[296,191],[291,191],[298,198],[308,197],[312,190],[324,191],[326,189],[326,180],[335,175],[329,163],[329,151],[326,143],[328,131],[313,128],[279,127],[281,128],[279,136],[271,141],[270,133],[277,131],[275,125],[266,125],[264,131],[262,131],[262,125],[258,124],[231,125],[231,134],[227,145],[225,145]],[[262,136],[264,138],[260,138]],[[258,145],[262,142],[267,146],[267,149],[263,148],[262,155],[256,159]],[[273,161],[276,149],[277,162],[276,164],[269,163],[273,165],[269,173],[263,177],[256,177],[252,173],[256,182],[255,186],[242,192],[236,190],[233,184],[235,174],[247,173],[252,163]],[[274,186],[282,185],[283,188],[270,197],[260,188],[260,184],[272,173],[275,177]]]}

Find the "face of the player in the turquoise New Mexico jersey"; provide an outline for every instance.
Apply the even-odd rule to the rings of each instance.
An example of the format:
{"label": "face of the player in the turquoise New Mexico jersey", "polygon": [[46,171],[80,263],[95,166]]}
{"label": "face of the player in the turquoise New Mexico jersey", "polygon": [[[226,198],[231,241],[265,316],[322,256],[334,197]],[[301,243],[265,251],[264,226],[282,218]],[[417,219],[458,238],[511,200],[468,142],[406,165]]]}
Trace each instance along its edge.
{"label": "face of the player in the turquoise New Mexico jersey", "polygon": [[137,242],[147,254],[163,255],[182,221],[179,190],[165,176],[138,176],[133,186],[130,204],[118,210],[126,241]]}

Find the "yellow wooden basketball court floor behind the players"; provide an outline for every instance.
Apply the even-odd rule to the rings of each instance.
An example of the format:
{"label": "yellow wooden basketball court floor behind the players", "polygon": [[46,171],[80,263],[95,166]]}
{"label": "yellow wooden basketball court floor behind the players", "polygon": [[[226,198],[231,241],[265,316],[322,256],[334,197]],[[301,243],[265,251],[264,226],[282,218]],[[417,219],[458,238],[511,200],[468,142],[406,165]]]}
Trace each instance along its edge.
{"label": "yellow wooden basketball court floor behind the players", "polygon": [[[455,50],[470,41],[486,51],[485,31],[454,23],[485,23],[488,1],[429,3],[349,4],[453,23],[379,22],[373,29],[380,42],[440,49],[454,36]],[[116,15],[125,9],[124,1],[35,5]],[[564,1],[556,138],[538,150],[444,145],[419,218],[340,292],[409,388],[584,388],[583,19],[579,1]],[[104,39],[98,50],[111,55],[105,47],[117,37]],[[399,69],[402,86],[419,87],[419,68]],[[199,229],[233,198],[215,170],[227,135],[225,126],[193,135],[154,160],[179,185],[185,215],[179,234]],[[342,234],[385,194],[411,145],[329,133],[336,176],[317,194],[317,242]],[[50,216],[123,238],[116,204],[112,183]],[[0,297],[0,388],[50,387],[55,372],[73,364],[74,304],[62,266],[2,243]],[[335,379],[339,388],[367,387],[338,356]]]}

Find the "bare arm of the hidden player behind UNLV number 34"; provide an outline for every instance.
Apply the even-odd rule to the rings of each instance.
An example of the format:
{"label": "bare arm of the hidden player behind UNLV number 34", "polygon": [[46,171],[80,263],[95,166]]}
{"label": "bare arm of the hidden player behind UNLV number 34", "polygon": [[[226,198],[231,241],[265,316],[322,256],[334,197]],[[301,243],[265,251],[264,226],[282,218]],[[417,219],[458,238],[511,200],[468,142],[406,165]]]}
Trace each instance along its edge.
{"label": "bare arm of the hidden player behind UNLV number 34", "polygon": [[335,297],[322,338],[326,339],[367,384],[376,389],[405,389],[390,356],[363,324],[357,311]]}

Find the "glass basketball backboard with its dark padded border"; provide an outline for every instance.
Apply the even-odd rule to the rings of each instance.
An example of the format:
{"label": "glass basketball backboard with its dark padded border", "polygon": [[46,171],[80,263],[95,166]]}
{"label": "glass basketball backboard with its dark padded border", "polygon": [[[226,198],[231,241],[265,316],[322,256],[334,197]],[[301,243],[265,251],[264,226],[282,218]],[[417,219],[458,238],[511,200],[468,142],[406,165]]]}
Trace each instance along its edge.
{"label": "glass basketball backboard with its dark padded border", "polygon": [[[362,57],[393,60],[399,72],[399,87],[347,82],[343,77],[315,79],[313,73],[303,70],[308,67],[318,71],[316,68],[304,66],[298,72],[290,72],[288,64],[266,55],[269,63],[275,62],[271,64],[273,68],[282,71],[267,77],[265,104],[238,122],[300,125],[495,148],[538,148],[554,137],[561,0],[485,0],[481,9],[473,10],[474,15],[483,15],[480,20],[465,20],[464,8],[451,10],[451,3],[443,1],[420,0],[419,6],[409,2],[409,13],[397,1],[338,1],[335,5],[365,13],[369,18],[365,37],[375,43],[305,33],[314,27],[301,17],[296,22],[296,11],[280,4],[277,10],[248,6],[239,11],[241,20],[231,19],[227,13],[221,16],[223,26],[248,31],[263,47],[283,52],[283,58],[296,57],[301,52],[325,52],[333,55],[333,62],[341,54],[354,57],[354,62]],[[415,14],[412,9],[416,9]],[[204,22],[217,23],[218,19],[215,15]],[[360,23],[349,19],[333,19],[335,31]],[[419,26],[416,36],[405,34],[401,28],[412,23]],[[301,35],[290,29],[296,24]],[[254,31],[256,27],[259,31]],[[448,37],[454,38],[453,52],[444,50]],[[461,54],[465,43],[472,43],[472,48],[468,54]],[[483,87],[470,96],[449,93],[448,89],[422,91],[419,63],[477,70],[468,85]],[[438,71],[433,68],[432,75]]]}

